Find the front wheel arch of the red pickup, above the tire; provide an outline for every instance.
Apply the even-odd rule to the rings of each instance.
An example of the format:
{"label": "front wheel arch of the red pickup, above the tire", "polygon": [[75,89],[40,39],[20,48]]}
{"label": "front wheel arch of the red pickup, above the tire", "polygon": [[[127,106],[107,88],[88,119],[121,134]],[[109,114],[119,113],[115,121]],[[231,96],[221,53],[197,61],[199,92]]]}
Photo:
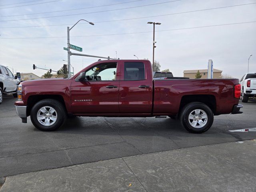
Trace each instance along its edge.
{"label": "front wheel arch of the red pickup, above the tire", "polygon": [[64,99],[61,95],[32,95],[28,97],[28,102],[27,102],[27,115],[30,115],[30,111],[32,109],[32,107],[41,100],[44,99],[55,99],[58,100],[59,102],[61,102],[63,104],[63,106],[66,109],[66,105],[64,102]]}

